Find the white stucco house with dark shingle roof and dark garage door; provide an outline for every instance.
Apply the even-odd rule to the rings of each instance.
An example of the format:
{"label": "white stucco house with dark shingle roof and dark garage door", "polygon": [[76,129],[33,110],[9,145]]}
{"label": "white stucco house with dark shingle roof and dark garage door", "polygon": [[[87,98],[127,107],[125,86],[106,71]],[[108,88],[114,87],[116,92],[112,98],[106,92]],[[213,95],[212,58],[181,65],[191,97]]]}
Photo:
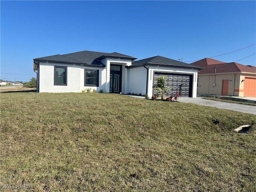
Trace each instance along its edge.
{"label": "white stucco house with dark shingle roof and dark garage door", "polygon": [[166,76],[168,95],[196,97],[198,70],[202,67],[154,56],[142,60],[117,52],[81,51],[34,59],[38,92],[81,92],[87,88],[105,93],[154,94],[156,78]]}

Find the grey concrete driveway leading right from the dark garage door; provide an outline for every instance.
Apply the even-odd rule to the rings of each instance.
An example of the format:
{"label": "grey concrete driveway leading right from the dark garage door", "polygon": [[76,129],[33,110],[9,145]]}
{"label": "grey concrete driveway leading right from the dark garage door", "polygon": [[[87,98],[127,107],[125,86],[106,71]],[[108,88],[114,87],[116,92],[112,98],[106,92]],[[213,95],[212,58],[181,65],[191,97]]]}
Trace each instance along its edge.
{"label": "grey concrete driveway leading right from the dark garage door", "polygon": [[214,100],[203,99],[201,97],[197,97],[197,98],[180,97],[178,98],[178,101],[186,102],[186,103],[194,103],[194,104],[203,105],[203,106],[216,107],[220,109],[229,109],[229,110],[256,115],[256,106],[253,106],[253,105],[214,101]]}

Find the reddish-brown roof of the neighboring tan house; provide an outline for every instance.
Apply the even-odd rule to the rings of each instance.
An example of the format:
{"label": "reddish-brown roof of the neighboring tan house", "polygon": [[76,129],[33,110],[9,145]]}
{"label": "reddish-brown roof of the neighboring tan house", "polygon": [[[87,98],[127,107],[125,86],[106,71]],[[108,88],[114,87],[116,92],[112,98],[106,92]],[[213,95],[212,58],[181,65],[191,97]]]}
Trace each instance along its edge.
{"label": "reddish-brown roof of the neighboring tan house", "polygon": [[228,73],[228,72],[251,72],[256,73],[255,66],[245,66],[239,63],[231,62],[225,63],[211,58],[204,58],[202,60],[191,63],[192,65],[204,67],[198,74],[212,74],[215,73]]}

